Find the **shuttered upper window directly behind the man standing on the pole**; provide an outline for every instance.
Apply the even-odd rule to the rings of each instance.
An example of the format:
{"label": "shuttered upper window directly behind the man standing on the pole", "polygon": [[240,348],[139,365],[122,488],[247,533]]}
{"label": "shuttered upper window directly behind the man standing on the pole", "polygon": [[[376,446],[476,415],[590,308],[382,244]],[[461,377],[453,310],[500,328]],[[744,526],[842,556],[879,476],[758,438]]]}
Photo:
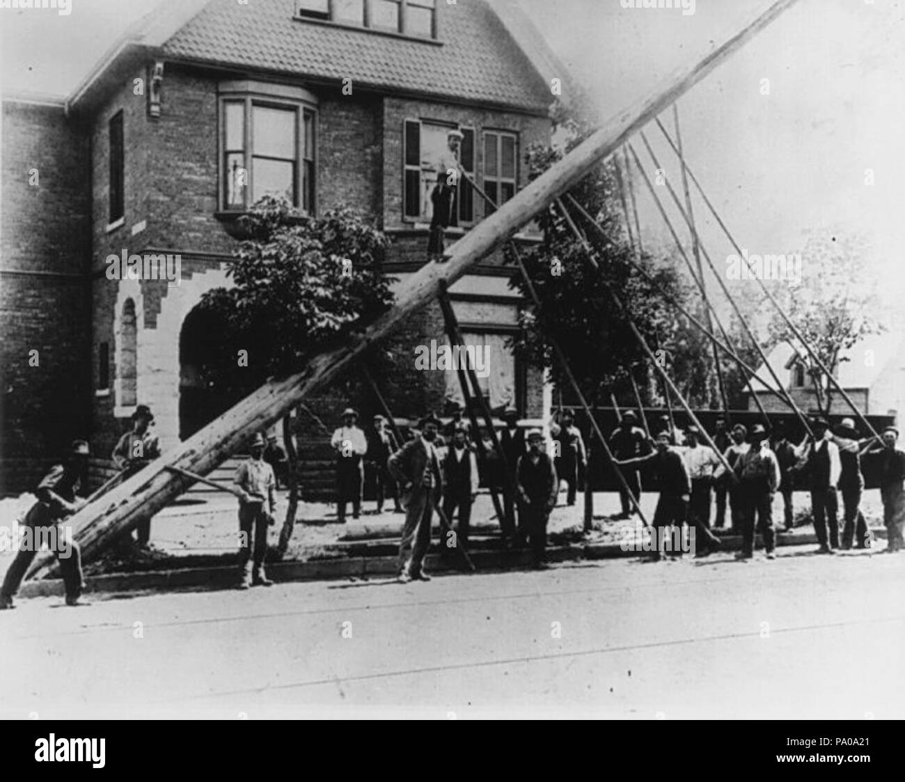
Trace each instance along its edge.
{"label": "shuttered upper window directly behind the man standing on the pole", "polygon": [[[431,193],[441,173],[441,157],[448,148],[449,131],[454,125],[430,122],[422,119],[406,119],[403,151],[405,174],[403,175],[403,205],[406,221],[430,223],[433,213]],[[474,129],[459,128],[462,144],[459,163],[469,176],[474,176]],[[474,191],[467,182],[456,187],[450,225],[474,222]]]}

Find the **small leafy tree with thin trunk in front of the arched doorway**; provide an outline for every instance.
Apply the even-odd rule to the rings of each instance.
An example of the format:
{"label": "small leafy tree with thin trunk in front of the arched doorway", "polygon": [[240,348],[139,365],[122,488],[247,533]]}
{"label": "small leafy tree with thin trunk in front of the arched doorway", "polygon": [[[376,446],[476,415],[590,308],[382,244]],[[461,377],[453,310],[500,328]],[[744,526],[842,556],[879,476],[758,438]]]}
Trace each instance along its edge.
{"label": "small leafy tree with thin trunk in front of the arched doorway", "polygon": [[[381,271],[388,240],[351,209],[311,217],[266,196],[239,218],[237,229],[242,242],[227,262],[233,287],[208,291],[199,305],[224,324],[205,372],[233,396],[298,371],[392,304],[394,280]],[[238,351],[246,360],[237,359]],[[284,529],[291,529],[299,491],[288,416],[282,431],[290,459]]]}

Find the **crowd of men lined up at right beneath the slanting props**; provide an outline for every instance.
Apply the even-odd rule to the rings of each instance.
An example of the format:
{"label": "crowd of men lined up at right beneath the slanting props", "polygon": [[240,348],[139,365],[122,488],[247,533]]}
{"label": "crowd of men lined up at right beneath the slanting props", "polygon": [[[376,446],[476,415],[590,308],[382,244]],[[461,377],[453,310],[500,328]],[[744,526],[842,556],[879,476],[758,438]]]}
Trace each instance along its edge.
{"label": "crowd of men lined up at right beneath the slanting props", "polygon": [[[846,418],[833,431],[824,416],[809,421],[813,436],[802,443],[791,443],[781,422],[767,434],[761,424],[748,429],[736,424],[727,431],[725,419],[717,422],[710,445],[702,442],[697,426],[686,430],[685,443],[676,443],[671,427],[664,427],[652,440],[637,425],[630,411],[623,415],[610,438],[614,462],[620,468],[626,486],[620,488],[623,518],[636,512],[641,496],[638,469],[648,465],[656,472],[660,497],[653,516],[658,541],[672,538],[664,529],[687,523],[696,530],[697,554],[706,557],[719,548],[719,538],[710,526],[710,508],[716,497],[714,527],[724,527],[727,496],[731,529],[742,536],[737,557],[754,556],[755,533],[760,531],[767,558],[776,557],[776,529],[773,500],[780,491],[784,501],[786,531],[793,529],[793,489],[810,491],[814,532],[823,554],[839,548],[869,548],[871,534],[861,510],[864,477],[862,460],[879,463],[881,499],[889,545],[887,551],[903,548],[902,525],[905,521],[905,453],[896,448],[899,431],[887,426],[880,439],[860,439],[853,419]],[[843,528],[840,538],[838,495],[843,500]],[[665,547],[653,552],[662,558]],[[671,551],[673,556],[680,552]]]}

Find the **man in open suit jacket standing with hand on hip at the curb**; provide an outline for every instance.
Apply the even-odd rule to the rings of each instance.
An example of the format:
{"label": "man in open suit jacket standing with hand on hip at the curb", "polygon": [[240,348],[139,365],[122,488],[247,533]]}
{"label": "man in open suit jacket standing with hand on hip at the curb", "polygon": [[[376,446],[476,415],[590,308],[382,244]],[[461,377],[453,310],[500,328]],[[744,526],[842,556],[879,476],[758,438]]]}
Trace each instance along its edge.
{"label": "man in open suit jacket standing with hand on hip at the curb", "polygon": [[435,415],[425,415],[418,428],[421,434],[389,458],[390,474],[402,487],[405,524],[399,541],[398,579],[430,581],[424,573],[424,556],[431,548],[433,507],[443,496],[443,472],[437,453],[437,432],[441,426]]}

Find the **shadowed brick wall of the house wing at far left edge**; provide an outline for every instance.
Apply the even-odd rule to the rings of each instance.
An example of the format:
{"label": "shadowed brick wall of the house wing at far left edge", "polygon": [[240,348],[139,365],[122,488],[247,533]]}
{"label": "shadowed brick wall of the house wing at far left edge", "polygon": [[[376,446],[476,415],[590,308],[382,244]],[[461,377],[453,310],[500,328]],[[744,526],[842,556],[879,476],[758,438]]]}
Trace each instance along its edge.
{"label": "shadowed brick wall of the house wing at far left edge", "polygon": [[90,373],[87,135],[62,107],[5,101],[3,123],[0,493],[31,488],[74,437],[88,434]]}

